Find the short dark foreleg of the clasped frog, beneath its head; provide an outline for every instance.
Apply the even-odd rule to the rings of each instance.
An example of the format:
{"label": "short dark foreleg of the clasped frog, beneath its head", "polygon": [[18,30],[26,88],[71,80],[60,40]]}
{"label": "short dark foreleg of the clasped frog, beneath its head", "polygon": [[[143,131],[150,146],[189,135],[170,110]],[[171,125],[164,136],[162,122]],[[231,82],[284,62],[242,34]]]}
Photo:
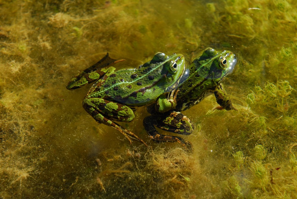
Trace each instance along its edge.
{"label": "short dark foreleg of the clasped frog, beneath its head", "polygon": [[217,106],[215,109],[226,109],[227,111],[233,109],[237,111],[237,109],[232,106],[232,102],[226,94],[225,90],[223,89],[222,84],[219,84],[217,88],[214,90],[214,95],[216,97],[217,103],[220,105]]}

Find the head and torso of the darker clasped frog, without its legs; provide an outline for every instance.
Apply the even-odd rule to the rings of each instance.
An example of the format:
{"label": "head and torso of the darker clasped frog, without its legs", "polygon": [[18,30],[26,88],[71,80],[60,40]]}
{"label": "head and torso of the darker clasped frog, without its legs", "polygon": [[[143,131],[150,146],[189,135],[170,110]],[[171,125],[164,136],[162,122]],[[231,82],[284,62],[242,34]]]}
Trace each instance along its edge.
{"label": "head and torso of the darker clasped frog, without its legs", "polygon": [[236,56],[231,51],[206,48],[189,65],[187,79],[178,86],[180,93],[176,109],[186,110],[214,93],[235,65]]}

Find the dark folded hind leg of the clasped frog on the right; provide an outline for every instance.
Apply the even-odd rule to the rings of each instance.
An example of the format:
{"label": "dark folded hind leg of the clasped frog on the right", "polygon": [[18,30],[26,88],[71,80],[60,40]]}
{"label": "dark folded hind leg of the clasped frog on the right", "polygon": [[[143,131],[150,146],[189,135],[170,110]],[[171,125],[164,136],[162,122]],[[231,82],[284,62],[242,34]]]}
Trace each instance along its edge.
{"label": "dark folded hind leg of the clasped frog on the right", "polygon": [[182,113],[170,111],[168,113],[157,115],[149,115],[144,118],[143,126],[150,137],[156,142],[178,142],[189,152],[192,151],[192,144],[178,136],[162,135],[155,126],[165,131],[178,134],[191,134],[195,125]]}

